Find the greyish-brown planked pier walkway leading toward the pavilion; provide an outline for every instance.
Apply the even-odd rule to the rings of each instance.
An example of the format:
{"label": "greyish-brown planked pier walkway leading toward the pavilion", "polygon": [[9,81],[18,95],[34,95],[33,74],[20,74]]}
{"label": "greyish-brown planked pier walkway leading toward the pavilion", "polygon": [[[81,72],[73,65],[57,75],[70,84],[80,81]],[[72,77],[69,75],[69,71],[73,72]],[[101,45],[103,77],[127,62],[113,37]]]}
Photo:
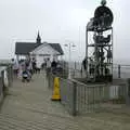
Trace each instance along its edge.
{"label": "greyish-brown planked pier walkway leading toward the pavilion", "polygon": [[44,74],[15,80],[0,112],[0,130],[130,130],[130,117],[109,113],[72,117],[52,102]]}

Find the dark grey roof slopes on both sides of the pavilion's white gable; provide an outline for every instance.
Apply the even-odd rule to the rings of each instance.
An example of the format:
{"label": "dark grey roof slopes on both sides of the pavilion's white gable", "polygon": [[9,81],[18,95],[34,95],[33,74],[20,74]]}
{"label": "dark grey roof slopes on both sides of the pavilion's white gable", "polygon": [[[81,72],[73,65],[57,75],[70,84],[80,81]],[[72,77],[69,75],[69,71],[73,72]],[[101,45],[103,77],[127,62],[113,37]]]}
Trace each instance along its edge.
{"label": "dark grey roof slopes on both sides of the pavilion's white gable", "polygon": [[[36,43],[36,42],[16,42],[15,43],[15,54],[23,54],[27,55],[29,52],[41,46],[42,43]],[[63,50],[60,46],[60,43],[49,43],[54,50],[61,53],[63,55]]]}

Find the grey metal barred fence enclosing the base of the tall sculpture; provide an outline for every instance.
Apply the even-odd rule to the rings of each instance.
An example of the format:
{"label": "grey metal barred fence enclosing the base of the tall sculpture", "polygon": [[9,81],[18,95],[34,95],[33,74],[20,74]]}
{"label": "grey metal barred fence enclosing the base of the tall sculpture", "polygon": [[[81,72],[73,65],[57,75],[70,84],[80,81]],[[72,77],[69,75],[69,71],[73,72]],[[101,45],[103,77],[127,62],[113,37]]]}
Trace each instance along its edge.
{"label": "grey metal barred fence enclosing the base of the tall sculpture", "polygon": [[[50,75],[50,88],[53,88],[54,76]],[[61,103],[72,114],[120,109],[127,102],[128,86],[125,82],[115,84],[81,83],[77,80],[60,78]]]}

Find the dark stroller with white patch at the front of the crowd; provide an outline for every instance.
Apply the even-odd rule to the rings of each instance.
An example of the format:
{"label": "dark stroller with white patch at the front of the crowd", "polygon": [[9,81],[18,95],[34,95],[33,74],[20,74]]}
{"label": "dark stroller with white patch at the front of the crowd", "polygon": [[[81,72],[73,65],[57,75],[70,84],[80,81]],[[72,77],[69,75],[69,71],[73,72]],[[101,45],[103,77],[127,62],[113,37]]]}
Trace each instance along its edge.
{"label": "dark stroller with white patch at the front of the crowd", "polygon": [[31,79],[31,73],[30,73],[30,70],[28,70],[28,69],[23,70],[22,77],[23,77],[22,78],[23,82],[25,82],[25,81],[29,82],[30,79]]}

